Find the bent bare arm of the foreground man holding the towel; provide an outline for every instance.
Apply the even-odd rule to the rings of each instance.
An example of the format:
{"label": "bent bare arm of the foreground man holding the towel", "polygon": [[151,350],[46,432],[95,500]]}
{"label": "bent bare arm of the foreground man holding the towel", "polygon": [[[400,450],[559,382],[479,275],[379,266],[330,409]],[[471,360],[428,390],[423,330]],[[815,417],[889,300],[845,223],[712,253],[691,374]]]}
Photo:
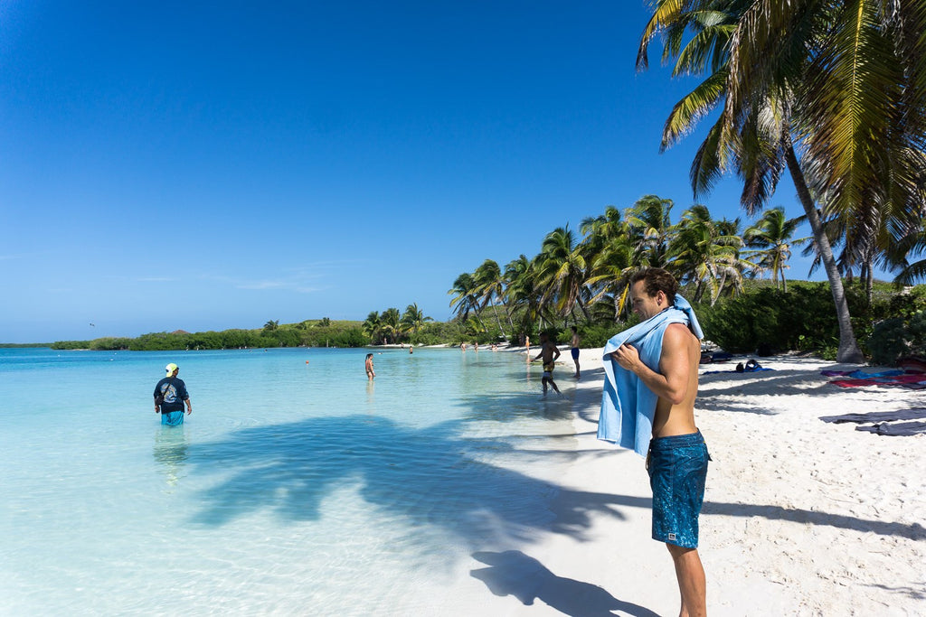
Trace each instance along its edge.
{"label": "bent bare arm of the foreground man holding the towel", "polygon": [[688,393],[688,376],[691,362],[685,349],[690,336],[684,324],[669,324],[662,336],[662,355],[659,356],[659,373],[640,360],[640,353],[632,345],[623,344],[611,353],[621,367],[632,371],[643,380],[660,399],[678,405]]}

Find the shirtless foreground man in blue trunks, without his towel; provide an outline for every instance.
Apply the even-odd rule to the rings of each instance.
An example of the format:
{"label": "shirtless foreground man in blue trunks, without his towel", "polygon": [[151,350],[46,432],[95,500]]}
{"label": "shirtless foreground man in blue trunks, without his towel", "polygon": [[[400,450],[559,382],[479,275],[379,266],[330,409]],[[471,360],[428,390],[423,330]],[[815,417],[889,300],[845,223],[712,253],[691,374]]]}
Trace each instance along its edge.
{"label": "shirtless foreground man in blue trunks, without his towel", "polygon": [[[649,319],[675,303],[678,283],[660,268],[631,278],[634,313]],[[707,614],[704,567],[697,553],[697,517],[704,500],[707,446],[694,425],[701,345],[684,324],[669,324],[662,338],[658,372],[640,361],[632,345],[611,357],[632,371],[658,397],[646,468],[653,488],[653,539],[666,543],[682,594],[682,617]],[[674,484],[674,486],[673,486]]]}

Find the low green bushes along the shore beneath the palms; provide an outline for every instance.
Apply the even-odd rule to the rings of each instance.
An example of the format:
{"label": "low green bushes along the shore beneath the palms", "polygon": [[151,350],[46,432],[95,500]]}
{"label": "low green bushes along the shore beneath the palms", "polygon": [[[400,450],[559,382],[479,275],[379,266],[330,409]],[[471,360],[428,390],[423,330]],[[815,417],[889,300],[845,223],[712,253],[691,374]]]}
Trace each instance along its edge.
{"label": "low green bushes along the shore beneath the palms", "polygon": [[[871,362],[891,365],[907,356],[926,356],[926,286],[898,291],[893,285],[876,283],[871,301],[863,286],[846,286],[859,341]],[[684,295],[694,291],[682,288]],[[593,305],[594,307],[594,305]],[[826,283],[794,281],[788,290],[770,281],[745,281],[744,289],[711,302],[696,302],[706,338],[718,348],[734,353],[763,354],[813,352],[834,359],[839,327],[832,312],[832,296]],[[370,345],[447,345],[461,342],[509,342],[522,345],[526,337],[537,340],[545,332],[560,343],[569,342],[570,327],[577,327],[583,347],[601,347],[619,330],[636,323],[627,315],[615,321],[610,315],[591,311],[589,320],[556,318],[548,315],[542,323],[527,329],[525,309],[518,306],[486,304],[471,315],[457,315],[446,322],[427,318],[419,324],[402,320],[397,309],[371,313],[366,321],[336,321],[327,318],[294,324],[269,321],[255,329],[229,329],[207,332],[156,332],[137,338],[101,338],[57,341],[57,350],[95,351],[178,351],[279,347],[365,347]],[[502,324],[490,321],[498,312]],[[394,317],[399,315],[396,322]],[[385,318],[382,318],[383,315]],[[374,316],[376,318],[374,318]],[[515,328],[506,327],[506,322]],[[494,318],[491,318],[494,319]],[[36,345],[37,346],[37,345]]]}

